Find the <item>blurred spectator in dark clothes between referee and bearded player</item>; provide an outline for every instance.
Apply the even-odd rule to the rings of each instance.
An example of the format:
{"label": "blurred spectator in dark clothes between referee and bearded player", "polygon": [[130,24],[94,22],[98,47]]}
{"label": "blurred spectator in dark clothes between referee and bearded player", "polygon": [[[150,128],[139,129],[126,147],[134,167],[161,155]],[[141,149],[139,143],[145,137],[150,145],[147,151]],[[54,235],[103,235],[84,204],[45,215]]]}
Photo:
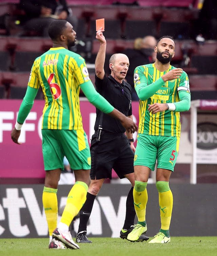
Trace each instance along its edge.
{"label": "blurred spectator in dark clothes between referee and bearded player", "polygon": [[145,36],[144,38],[136,38],[134,41],[134,49],[126,49],[126,54],[130,61],[129,70],[126,75],[127,83],[133,88],[132,100],[138,100],[137,93],[134,89],[134,69],[137,66],[153,63],[156,60],[154,52],[157,41],[154,36]]}

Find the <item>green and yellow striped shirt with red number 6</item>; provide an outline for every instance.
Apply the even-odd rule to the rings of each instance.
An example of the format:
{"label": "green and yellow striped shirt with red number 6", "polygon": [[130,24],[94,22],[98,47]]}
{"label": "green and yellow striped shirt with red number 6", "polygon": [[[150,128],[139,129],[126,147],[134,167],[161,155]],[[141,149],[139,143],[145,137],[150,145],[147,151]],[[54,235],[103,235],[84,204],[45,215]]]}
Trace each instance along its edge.
{"label": "green and yellow striped shirt with red number 6", "polygon": [[86,82],[86,64],[77,53],[58,47],[35,59],[28,86],[41,86],[44,93],[42,129],[83,129],[79,91]]}

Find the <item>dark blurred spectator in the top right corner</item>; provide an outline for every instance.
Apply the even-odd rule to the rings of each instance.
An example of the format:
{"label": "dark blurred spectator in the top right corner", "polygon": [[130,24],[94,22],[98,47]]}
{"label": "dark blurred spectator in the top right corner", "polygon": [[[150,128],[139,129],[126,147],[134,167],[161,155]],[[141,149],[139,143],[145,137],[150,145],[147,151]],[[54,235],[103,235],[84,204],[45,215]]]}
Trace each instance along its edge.
{"label": "dark blurred spectator in the top right corner", "polygon": [[198,42],[203,42],[205,39],[217,39],[216,0],[204,0],[198,20],[196,21],[196,26],[194,26],[194,31],[194,37]]}

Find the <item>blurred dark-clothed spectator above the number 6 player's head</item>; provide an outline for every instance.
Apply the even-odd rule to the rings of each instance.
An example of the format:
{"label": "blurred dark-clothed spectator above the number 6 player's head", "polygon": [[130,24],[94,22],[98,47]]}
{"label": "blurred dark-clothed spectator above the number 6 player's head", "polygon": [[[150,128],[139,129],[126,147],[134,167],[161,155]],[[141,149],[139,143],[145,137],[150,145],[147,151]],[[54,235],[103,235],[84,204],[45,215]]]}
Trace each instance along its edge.
{"label": "blurred dark-clothed spectator above the number 6 player's head", "polygon": [[65,0],[20,0],[20,8],[25,11],[21,20],[25,32],[36,31],[48,37],[48,27],[55,19],[67,20],[77,29],[78,20]]}

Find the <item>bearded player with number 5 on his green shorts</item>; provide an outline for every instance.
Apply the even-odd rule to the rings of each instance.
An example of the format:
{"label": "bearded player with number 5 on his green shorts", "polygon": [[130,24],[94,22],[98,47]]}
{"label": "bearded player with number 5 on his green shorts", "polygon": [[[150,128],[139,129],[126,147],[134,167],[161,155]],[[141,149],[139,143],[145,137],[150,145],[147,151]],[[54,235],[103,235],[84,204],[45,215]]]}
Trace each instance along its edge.
{"label": "bearded player with number 5 on his green shorts", "polygon": [[171,240],[169,228],[173,208],[169,179],[174,171],[179,150],[179,112],[189,110],[191,95],[188,75],[181,68],[170,65],[175,54],[173,38],[161,37],[155,52],[155,63],[139,66],[134,71],[135,90],[140,99],[133,190],[138,223],[127,239],[136,241],[147,231],[146,186],[157,160],[156,188],[159,194],[161,228],[149,243],[168,243]]}

